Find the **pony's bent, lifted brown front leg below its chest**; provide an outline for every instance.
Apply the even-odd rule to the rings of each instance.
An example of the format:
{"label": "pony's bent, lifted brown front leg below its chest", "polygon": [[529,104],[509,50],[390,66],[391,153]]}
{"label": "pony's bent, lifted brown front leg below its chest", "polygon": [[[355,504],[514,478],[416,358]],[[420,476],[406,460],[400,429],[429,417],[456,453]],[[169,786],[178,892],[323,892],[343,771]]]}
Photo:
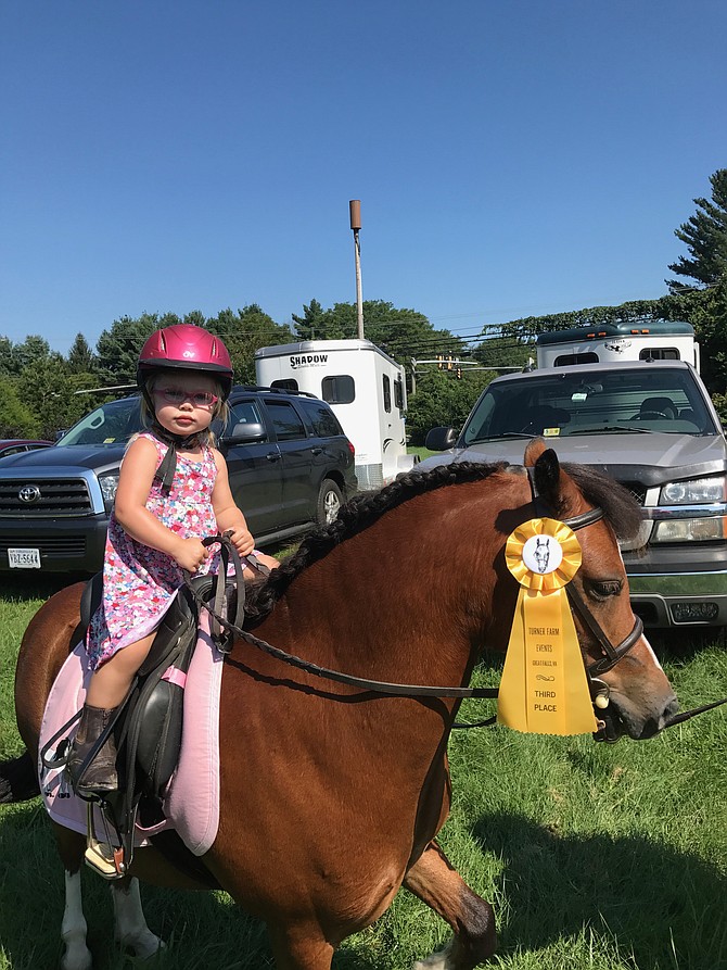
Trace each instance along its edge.
{"label": "pony's bent, lifted brown front leg below its chest", "polygon": [[495,952],[495,914],[468,886],[436,842],[430,842],[409,869],[404,885],[455,931],[441,952],[414,963],[414,970],[472,970]]}

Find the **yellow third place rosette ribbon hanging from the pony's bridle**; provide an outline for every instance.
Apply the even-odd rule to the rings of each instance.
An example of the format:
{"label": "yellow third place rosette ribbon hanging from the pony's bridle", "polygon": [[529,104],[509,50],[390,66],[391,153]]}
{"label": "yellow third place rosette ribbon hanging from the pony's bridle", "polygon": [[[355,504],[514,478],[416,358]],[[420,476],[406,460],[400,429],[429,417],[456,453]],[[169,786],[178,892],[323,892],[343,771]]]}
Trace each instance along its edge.
{"label": "yellow third place rosette ribbon hanging from the pony's bridle", "polygon": [[565,593],[581,567],[573,530],[550,518],[519,526],[505,547],[520,583],[497,719],[516,731],[581,734],[596,717]]}

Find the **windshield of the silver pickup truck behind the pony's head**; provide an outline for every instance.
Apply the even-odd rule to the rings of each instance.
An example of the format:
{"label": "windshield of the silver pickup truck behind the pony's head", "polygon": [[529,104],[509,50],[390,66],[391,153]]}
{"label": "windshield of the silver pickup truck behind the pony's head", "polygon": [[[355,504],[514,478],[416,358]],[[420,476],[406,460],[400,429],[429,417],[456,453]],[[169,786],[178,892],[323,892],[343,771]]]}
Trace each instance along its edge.
{"label": "windshield of the silver pickup truck behind the pony's head", "polygon": [[464,427],[465,445],[514,434],[628,431],[717,434],[691,373],[667,366],[550,374],[490,385]]}

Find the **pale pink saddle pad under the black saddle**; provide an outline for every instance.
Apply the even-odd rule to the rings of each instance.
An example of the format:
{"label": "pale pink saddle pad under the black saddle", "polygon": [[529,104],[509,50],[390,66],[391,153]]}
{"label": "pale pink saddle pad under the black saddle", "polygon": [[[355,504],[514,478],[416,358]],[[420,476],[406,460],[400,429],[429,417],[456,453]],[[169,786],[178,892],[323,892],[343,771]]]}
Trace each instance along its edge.
{"label": "pale pink saddle pad under the black saddle", "polygon": [[[86,650],[79,643],[63,665],[48,696],[40,729],[40,751],[82,707],[90,676]],[[175,829],[190,852],[201,856],[215,841],[219,823],[219,691],[222,678],[222,655],[209,637],[205,612],[187,677],[174,670],[167,671],[165,677],[184,688],[181,752],[165,795],[166,818],[151,829],[138,826],[135,845],[148,845],[150,835]],[[39,758],[38,773],[50,817],[66,829],[85,833],[86,802],[74,795],[63,770],[46,768]],[[97,832],[104,832],[101,815],[97,808],[93,810]]]}

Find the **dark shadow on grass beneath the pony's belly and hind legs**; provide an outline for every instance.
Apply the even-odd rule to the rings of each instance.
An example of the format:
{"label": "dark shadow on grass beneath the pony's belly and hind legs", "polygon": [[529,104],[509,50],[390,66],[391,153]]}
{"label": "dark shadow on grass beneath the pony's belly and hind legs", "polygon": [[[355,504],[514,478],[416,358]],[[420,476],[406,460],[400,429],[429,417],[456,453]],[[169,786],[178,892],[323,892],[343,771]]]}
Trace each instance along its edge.
{"label": "dark shadow on grass beneath the pony's belly and hind legs", "polygon": [[[82,869],[84,912],[94,970],[140,966],[113,940],[106,883]],[[144,962],[148,970],[266,970],[275,963],[265,924],[240,910],[225,893],[142,885],[144,915],[167,949]],[[0,966],[50,970],[63,953],[63,868],[40,799],[0,807]],[[3,956],[7,963],[3,962]],[[345,947],[336,970],[374,970],[377,963]]]}

